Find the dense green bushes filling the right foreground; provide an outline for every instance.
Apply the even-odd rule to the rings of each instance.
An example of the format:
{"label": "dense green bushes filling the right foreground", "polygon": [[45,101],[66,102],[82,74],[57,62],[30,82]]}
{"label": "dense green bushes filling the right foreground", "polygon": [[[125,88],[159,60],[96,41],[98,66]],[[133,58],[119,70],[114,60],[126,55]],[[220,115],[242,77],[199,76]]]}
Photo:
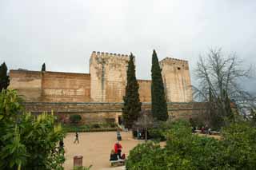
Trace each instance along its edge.
{"label": "dense green bushes filling the right foreground", "polygon": [[164,148],[139,144],[130,151],[127,169],[254,169],[256,128],[250,122],[231,122],[222,140],[191,133],[186,121],[175,121]]}

